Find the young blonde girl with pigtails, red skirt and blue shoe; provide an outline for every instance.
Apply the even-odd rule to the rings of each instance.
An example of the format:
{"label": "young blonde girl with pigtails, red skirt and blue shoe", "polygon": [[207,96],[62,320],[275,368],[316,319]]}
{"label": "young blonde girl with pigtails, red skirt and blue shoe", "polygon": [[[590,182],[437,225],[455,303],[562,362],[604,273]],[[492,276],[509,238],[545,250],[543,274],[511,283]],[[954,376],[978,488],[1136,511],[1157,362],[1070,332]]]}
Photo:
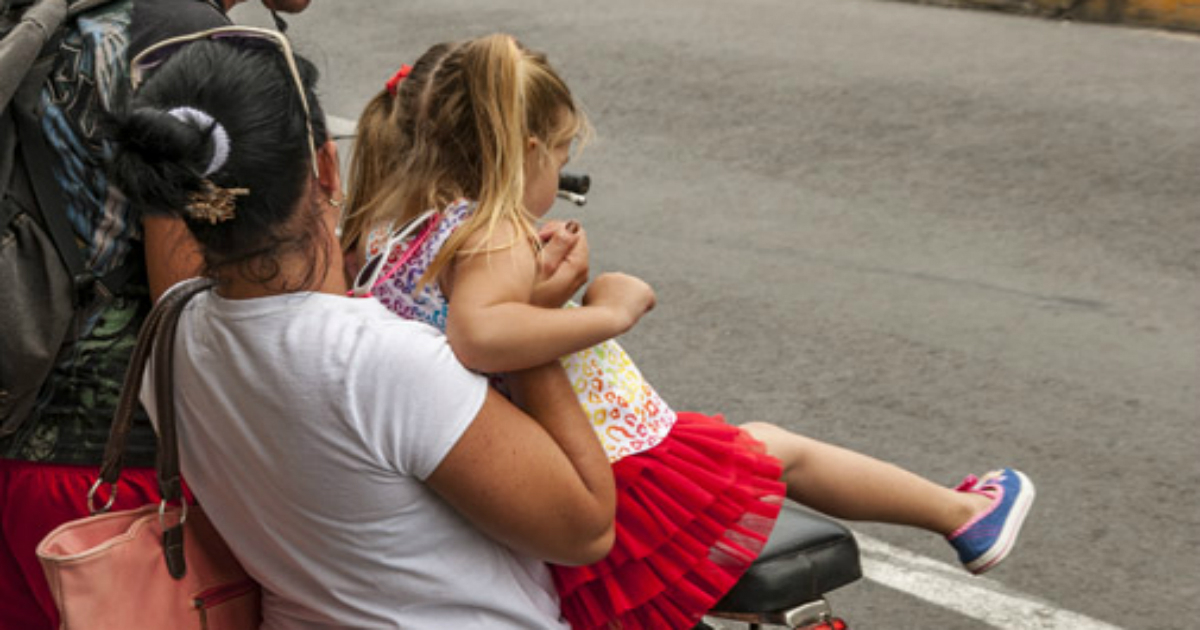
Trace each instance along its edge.
{"label": "young blonde girl with pigtails, red skirt and blue shoe", "polygon": [[553,568],[571,625],[691,628],[757,557],[785,496],[943,534],[973,572],[1001,562],[1033,500],[1024,474],[947,488],[773,425],[672,410],[612,341],[653,307],[644,282],[604,274],[559,307],[586,275],[586,236],[536,222],[588,131],[546,58],[514,38],[436,46],[360,118],[343,226],[348,258],[367,260],[360,294],[443,329],[468,367],[564,358],[618,492],[612,553]]}

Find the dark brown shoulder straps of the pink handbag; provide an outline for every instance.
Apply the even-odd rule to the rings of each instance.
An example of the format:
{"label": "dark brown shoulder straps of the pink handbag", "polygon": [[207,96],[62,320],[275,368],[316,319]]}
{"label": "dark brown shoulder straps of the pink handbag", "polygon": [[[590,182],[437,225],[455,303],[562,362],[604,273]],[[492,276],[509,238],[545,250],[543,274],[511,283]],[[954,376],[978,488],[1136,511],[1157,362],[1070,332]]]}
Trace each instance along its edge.
{"label": "dark brown shoulder straps of the pink handbag", "polygon": [[[130,430],[133,427],[133,410],[137,408],[138,394],[142,391],[142,379],[145,374],[146,361],[154,354],[155,371],[155,409],[158,420],[158,449],[156,455],[158,493],[162,499],[158,508],[158,518],[163,520],[168,502],[179,500],[182,503],[182,481],[179,474],[179,438],[175,431],[175,397],[172,389],[174,383],[174,356],[175,356],[175,330],[179,328],[179,317],[184,307],[197,294],[209,290],[212,287],[209,278],[185,280],[172,287],[158,299],[150,314],[146,316],[138,332],[138,342],[133,347],[133,355],[125,371],[125,382],[121,384],[121,398],[116,404],[113,416],[113,425],[109,427],[108,443],[104,445],[104,460],[100,468],[100,479],[88,492],[88,508],[92,514],[108,511],[116,498],[116,481],[121,476],[121,468],[125,460],[125,444],[128,442]],[[107,484],[109,486],[109,498],[101,508],[96,508],[94,498],[96,490]],[[187,572],[187,564],[184,560],[184,521],[187,518],[187,506],[184,504],[179,521],[166,527],[163,523],[163,558],[172,577],[179,580]]]}

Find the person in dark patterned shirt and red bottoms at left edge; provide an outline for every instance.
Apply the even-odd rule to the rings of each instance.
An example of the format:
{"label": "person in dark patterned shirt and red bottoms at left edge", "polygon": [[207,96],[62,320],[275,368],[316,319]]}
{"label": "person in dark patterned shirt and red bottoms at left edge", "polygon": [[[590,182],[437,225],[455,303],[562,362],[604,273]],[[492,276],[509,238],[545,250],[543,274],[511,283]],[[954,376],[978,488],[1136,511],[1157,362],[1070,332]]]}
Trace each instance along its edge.
{"label": "person in dark patterned shirt and red bottoms at left edge", "polygon": [[[60,275],[64,281],[74,274],[60,265],[53,250],[41,265],[25,258],[23,252],[36,251],[30,244],[37,242],[30,240],[29,226],[42,220],[26,215],[32,191],[8,194],[28,184],[25,169],[13,169],[14,179],[0,181],[5,191],[0,194],[0,274],[5,274],[0,292],[6,307],[24,300],[38,306],[36,317],[13,310],[26,313],[20,332],[5,328],[0,334],[0,630],[59,628],[35,548],[54,528],[88,516],[84,497],[98,475],[138,329],[163,289],[194,276],[200,264],[180,221],[161,215],[143,221],[110,185],[106,173],[109,138],[96,122],[124,101],[130,59],[137,52],[168,37],[228,26],[227,11],[241,1],[58,2],[70,4],[71,10],[43,50],[43,56],[53,53],[54,60],[41,90],[28,98],[36,107],[30,118],[19,120],[10,120],[8,113],[16,110],[10,107],[0,124],[4,151],[25,132],[44,140],[44,158],[28,157],[24,144],[14,157],[18,164],[28,160],[32,170],[62,191],[61,206],[44,205],[42,211],[64,222],[58,239],[78,245],[82,271],[70,286],[10,281],[7,274],[22,271]],[[308,0],[260,4],[272,12],[294,13]],[[25,5],[0,1],[5,32],[10,18],[25,11]],[[0,170],[0,178],[10,175]],[[13,218],[25,227],[18,228]],[[73,317],[49,317],[53,302],[47,294],[70,299]],[[113,504],[116,510],[157,498],[154,431],[140,408],[134,414],[124,487]]]}

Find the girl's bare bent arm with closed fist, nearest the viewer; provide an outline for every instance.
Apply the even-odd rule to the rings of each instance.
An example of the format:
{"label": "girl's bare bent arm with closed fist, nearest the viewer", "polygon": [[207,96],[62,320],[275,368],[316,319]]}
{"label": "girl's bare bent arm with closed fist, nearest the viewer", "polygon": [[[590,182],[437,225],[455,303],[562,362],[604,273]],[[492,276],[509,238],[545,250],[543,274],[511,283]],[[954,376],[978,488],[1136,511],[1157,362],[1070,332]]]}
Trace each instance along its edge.
{"label": "girl's bare bent arm with closed fist, nearest the viewer", "polygon": [[592,283],[580,308],[530,304],[538,266],[533,246],[502,222],[491,239],[470,239],[443,288],[450,299],[446,338],[479,372],[542,365],[631,329],[654,306],[648,284],[624,274]]}

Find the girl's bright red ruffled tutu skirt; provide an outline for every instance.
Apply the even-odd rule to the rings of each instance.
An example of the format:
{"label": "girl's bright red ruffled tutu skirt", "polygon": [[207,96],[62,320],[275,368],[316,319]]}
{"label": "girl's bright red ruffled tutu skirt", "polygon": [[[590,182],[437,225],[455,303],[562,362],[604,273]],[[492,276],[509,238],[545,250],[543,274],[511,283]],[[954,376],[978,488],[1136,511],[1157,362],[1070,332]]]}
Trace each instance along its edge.
{"label": "girl's bright red ruffled tutu skirt", "polygon": [[619,460],[617,540],[604,560],[552,565],[575,630],[690,629],[762,552],[782,505],[779,461],[720,416],[678,414]]}

